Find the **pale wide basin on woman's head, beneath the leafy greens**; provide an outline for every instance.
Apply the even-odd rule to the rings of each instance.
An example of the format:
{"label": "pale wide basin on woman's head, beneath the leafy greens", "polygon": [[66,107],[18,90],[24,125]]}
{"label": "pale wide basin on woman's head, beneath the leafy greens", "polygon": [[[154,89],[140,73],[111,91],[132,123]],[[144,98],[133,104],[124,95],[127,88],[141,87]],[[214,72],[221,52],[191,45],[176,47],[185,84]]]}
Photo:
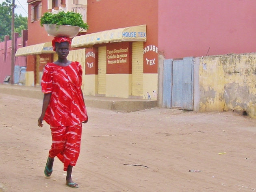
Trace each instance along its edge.
{"label": "pale wide basin on woman's head, beneath the leafy greens", "polygon": [[55,25],[55,24],[43,24],[46,32],[54,37],[62,36],[62,37],[75,37],[80,27],[71,26],[71,25]]}

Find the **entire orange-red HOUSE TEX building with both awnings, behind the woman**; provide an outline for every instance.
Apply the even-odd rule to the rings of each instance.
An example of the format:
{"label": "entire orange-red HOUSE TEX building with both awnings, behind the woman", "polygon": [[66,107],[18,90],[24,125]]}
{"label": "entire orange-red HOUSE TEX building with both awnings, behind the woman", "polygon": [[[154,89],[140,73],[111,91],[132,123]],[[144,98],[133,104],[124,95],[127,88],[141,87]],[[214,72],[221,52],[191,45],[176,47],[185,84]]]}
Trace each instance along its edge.
{"label": "entire orange-red HOUSE TEX building with both awnings, behind the woman", "polygon": [[28,0],[28,47],[16,53],[27,56],[27,85],[39,86],[43,66],[56,59],[40,16],[74,11],[89,24],[87,32],[73,38],[68,57],[83,66],[83,93],[156,100],[157,6],[157,0]]}

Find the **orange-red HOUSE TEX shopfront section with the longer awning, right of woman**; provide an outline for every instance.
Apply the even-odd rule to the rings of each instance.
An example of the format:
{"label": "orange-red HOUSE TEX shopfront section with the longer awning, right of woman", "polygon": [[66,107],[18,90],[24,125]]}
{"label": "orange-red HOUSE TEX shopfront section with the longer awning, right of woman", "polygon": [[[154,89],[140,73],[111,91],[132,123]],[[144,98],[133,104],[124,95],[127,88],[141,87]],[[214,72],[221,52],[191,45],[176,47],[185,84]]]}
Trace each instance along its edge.
{"label": "orange-red HOUSE TEX shopfront section with the longer awning, right of woman", "polygon": [[157,99],[157,0],[87,0],[85,95]]}

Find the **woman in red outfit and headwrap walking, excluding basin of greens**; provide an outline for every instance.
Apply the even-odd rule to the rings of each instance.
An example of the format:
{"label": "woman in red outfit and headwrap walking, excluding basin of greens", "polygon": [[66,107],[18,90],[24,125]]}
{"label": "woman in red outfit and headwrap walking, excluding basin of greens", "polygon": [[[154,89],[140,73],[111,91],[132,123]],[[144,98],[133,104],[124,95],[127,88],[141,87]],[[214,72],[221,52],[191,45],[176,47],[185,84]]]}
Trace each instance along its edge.
{"label": "woman in red outfit and headwrap walking, excluding basin of greens", "polygon": [[82,66],[67,60],[69,44],[68,37],[54,37],[52,40],[58,60],[48,63],[43,71],[41,87],[44,97],[38,126],[42,127],[45,120],[52,132],[45,176],[52,175],[54,157],[58,157],[67,172],[66,185],[78,188],[78,184],[72,181],[71,173],[80,153],[82,123],[87,123],[88,116],[80,88]]}

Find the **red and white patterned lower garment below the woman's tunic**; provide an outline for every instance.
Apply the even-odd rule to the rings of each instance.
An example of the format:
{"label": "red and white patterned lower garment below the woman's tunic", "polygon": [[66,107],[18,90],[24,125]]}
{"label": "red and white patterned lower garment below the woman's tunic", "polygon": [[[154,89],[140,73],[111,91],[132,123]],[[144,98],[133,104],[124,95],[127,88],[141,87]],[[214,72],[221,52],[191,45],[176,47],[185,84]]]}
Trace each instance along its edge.
{"label": "red and white patterned lower garment below the woman's tunic", "polygon": [[49,157],[58,157],[64,164],[64,171],[69,165],[75,166],[80,153],[82,124],[66,127],[50,127],[52,146]]}

